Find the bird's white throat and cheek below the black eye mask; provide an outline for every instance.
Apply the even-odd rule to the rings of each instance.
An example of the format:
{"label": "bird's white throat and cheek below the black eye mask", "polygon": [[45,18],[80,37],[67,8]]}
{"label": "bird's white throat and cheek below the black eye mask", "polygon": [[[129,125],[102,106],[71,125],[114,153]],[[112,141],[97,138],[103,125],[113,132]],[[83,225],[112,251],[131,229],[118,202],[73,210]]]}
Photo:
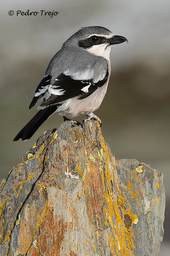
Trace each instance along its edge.
{"label": "bird's white throat and cheek below the black eye mask", "polygon": [[111,52],[111,45],[102,44],[102,45],[93,45],[91,48],[87,49],[88,52],[101,56],[108,61],[110,61],[110,52]]}

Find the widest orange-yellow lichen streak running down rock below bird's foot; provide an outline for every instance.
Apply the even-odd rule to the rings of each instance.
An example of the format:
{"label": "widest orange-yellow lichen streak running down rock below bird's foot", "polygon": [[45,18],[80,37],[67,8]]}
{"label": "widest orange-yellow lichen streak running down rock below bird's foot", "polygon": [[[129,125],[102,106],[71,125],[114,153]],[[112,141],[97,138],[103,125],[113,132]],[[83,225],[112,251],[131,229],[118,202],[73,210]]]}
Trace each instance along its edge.
{"label": "widest orange-yellow lichen streak running down rock below bird's foot", "polygon": [[[112,227],[112,231],[109,234],[109,247],[111,249],[111,253],[113,255],[131,255],[134,256],[133,254],[133,248],[134,248],[134,243],[133,243],[133,233],[132,232],[127,232],[127,228],[124,224],[124,219],[122,219],[122,215],[119,211],[119,202],[115,198],[115,195],[112,194],[112,184],[114,182],[114,176],[112,174],[112,171],[114,171],[114,166],[113,170],[111,170],[111,167],[109,165],[110,162],[110,156],[109,152],[107,149],[107,146],[104,143],[103,137],[101,136],[101,141],[102,141],[102,148],[104,152],[104,160],[105,161],[105,176],[107,183],[105,183],[105,176],[103,173],[103,168],[102,172],[100,172],[101,178],[102,178],[102,183],[103,183],[103,199],[105,199],[106,202],[106,207],[105,209],[105,217],[106,221],[105,224],[107,224],[107,221],[109,221],[110,226]],[[106,184],[107,187],[104,187],[104,184]],[[131,189],[131,186],[129,187]],[[128,189],[128,190],[129,190]],[[120,189],[119,189],[120,191]],[[132,193],[132,191],[131,191]],[[133,195],[137,197],[136,195]],[[122,202],[126,202],[126,198],[122,196],[121,199]],[[135,216],[130,213],[130,208],[127,209],[127,206],[124,206],[124,210],[128,211],[130,218],[133,220],[135,219]],[[113,223],[114,219],[114,223]],[[131,227],[129,228],[131,230]]]}

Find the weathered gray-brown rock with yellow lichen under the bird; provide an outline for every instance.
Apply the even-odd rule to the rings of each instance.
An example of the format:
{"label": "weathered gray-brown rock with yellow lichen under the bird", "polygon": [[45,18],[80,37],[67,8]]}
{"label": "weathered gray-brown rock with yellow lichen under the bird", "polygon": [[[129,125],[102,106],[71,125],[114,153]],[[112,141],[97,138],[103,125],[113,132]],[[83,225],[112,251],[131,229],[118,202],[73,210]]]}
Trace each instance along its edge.
{"label": "weathered gray-brown rock with yellow lichen under the bird", "polygon": [[64,122],[22,159],[0,186],[0,255],[158,255],[163,174],[116,161],[96,121]]}

